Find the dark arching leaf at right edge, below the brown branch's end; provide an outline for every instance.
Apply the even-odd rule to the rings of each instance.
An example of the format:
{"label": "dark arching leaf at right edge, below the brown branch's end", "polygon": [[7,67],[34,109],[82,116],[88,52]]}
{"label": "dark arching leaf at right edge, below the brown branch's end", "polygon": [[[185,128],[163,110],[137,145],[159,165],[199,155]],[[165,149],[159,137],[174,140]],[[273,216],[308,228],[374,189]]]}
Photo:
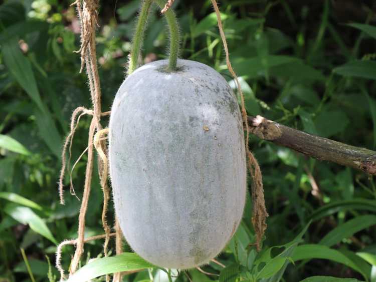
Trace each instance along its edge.
{"label": "dark arching leaf at right edge, below the brown branch's end", "polygon": [[346,210],[367,210],[376,213],[376,201],[367,199],[334,201],[316,209],[311,214],[310,218],[312,220],[318,220],[322,217]]}

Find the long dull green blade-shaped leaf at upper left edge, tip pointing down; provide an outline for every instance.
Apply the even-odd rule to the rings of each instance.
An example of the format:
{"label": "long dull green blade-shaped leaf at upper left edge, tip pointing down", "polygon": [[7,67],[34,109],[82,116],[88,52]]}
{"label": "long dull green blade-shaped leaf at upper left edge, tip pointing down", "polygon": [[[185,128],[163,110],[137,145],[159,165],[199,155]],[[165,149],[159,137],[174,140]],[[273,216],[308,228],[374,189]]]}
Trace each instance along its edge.
{"label": "long dull green blade-shaped leaf at upper left edge, tip pointing down", "polygon": [[38,108],[45,112],[45,107],[39,95],[37,82],[34,77],[30,61],[22,54],[16,39],[9,40],[2,44],[4,62],[9,72],[29,94],[30,98],[37,104]]}

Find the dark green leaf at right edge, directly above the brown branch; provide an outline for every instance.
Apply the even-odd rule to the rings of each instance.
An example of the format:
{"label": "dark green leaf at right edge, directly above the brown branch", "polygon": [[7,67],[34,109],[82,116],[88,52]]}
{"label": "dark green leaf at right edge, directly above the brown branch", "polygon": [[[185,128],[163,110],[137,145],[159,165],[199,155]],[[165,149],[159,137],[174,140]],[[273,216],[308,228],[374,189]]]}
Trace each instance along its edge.
{"label": "dark green leaf at right edge, directly above the brown branch", "polygon": [[333,72],[346,77],[376,79],[376,62],[353,61],[335,68]]}

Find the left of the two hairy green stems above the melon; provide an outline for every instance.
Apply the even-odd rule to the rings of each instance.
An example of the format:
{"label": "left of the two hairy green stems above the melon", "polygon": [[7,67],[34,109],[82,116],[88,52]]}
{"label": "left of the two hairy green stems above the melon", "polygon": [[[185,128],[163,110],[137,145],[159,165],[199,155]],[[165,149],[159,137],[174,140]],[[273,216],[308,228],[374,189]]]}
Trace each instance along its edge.
{"label": "left of the two hairy green stems above the melon", "polygon": [[128,75],[134,72],[137,68],[138,55],[142,47],[143,35],[145,33],[147,16],[149,14],[150,5],[152,0],[145,0],[142,2],[140,14],[137,18],[136,32],[133,36],[132,48],[129,58]]}

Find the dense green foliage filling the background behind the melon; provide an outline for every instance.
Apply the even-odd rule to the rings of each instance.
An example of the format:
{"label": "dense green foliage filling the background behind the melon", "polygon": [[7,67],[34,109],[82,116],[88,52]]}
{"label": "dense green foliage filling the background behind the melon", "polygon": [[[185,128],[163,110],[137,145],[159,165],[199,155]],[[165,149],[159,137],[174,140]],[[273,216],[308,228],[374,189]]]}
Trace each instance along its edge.
{"label": "dense green foliage filling the background behind the melon", "polygon": [[[107,111],[124,79],[139,1],[101,4],[97,54]],[[59,205],[56,184],[70,115],[77,106],[90,106],[85,75],[78,72],[79,56],[73,53],[79,46],[79,22],[69,5],[24,0],[0,6],[0,281],[55,280],[57,271],[49,261],[55,263],[56,244],[77,236],[80,202],[66,192],[66,205]],[[210,1],[176,1],[174,7],[181,25],[180,57],[212,66],[235,88]],[[238,0],[222,1],[221,10],[249,114],[375,149],[373,1]],[[165,58],[167,41],[164,20],[155,11],[143,62]],[[82,118],[72,160],[87,146],[88,126]],[[203,267],[220,276],[196,269],[187,275],[194,281],[337,281],[322,276],[376,281],[373,177],[251,138],[270,214],[263,250],[257,254],[252,245],[248,201],[239,230],[218,257],[227,267]],[[78,197],[84,169],[85,157],[72,174]],[[66,184],[69,190],[68,178]],[[98,177],[92,187],[87,236],[103,233]],[[113,222],[112,207],[110,214]],[[82,264],[103,256],[102,242],[86,244],[85,251]],[[64,248],[65,269],[72,252],[73,247]],[[143,263],[132,255],[128,259]],[[180,273],[176,281],[188,281],[187,275]],[[307,278],[314,275],[321,277]],[[150,277],[167,279],[154,268],[124,281]]]}

